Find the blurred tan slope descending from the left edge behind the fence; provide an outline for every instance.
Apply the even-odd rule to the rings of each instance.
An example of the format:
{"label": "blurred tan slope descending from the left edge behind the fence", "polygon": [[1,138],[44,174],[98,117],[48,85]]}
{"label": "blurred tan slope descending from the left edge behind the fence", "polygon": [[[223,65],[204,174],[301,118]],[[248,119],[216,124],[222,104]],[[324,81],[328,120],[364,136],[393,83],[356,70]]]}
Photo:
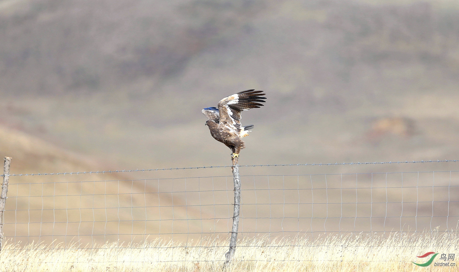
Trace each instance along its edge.
{"label": "blurred tan slope descending from the left edge behind the fence", "polygon": [[[106,167],[25,133],[0,128],[0,149],[15,154],[12,173],[36,173],[37,169],[42,173],[87,172]],[[171,216],[196,217],[206,213],[197,206],[180,205],[182,195],[174,200],[170,193],[158,193],[170,191],[168,184],[158,182],[155,186],[149,180],[147,186],[146,180],[126,179],[127,175],[120,172],[11,176],[5,237],[13,242],[51,244],[73,240],[91,244],[107,239],[132,240],[134,233],[139,239],[147,231],[171,233],[172,229],[175,233],[187,233],[190,228],[196,232],[198,227],[209,229],[216,225],[209,220],[199,226],[196,220],[169,223],[165,219]],[[160,220],[165,222],[160,225]]]}

